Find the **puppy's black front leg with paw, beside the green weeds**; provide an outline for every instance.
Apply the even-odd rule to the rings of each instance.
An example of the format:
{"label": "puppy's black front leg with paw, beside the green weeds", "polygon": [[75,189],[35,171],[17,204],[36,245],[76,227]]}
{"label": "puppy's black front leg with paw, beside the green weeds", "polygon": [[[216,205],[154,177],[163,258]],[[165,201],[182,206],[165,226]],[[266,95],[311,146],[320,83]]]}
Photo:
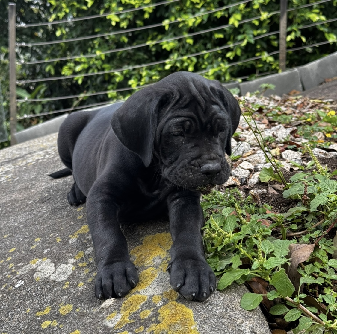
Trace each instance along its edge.
{"label": "puppy's black front leg with paw, beside the green weeds", "polygon": [[172,288],[186,299],[205,300],[216,287],[214,272],[205,260],[201,228],[205,220],[200,193],[184,190],[167,199],[173,245],[167,267]]}

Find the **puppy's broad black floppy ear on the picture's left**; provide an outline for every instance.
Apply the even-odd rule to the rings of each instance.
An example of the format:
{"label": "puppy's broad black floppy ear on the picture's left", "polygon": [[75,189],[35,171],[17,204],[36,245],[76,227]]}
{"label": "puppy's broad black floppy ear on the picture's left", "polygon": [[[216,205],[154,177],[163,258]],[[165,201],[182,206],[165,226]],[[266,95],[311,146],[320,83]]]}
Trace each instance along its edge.
{"label": "puppy's broad black floppy ear on the picture's left", "polygon": [[152,87],[143,88],[130,96],[111,118],[117,138],[138,154],[146,167],[152,161],[160,101],[160,94]]}

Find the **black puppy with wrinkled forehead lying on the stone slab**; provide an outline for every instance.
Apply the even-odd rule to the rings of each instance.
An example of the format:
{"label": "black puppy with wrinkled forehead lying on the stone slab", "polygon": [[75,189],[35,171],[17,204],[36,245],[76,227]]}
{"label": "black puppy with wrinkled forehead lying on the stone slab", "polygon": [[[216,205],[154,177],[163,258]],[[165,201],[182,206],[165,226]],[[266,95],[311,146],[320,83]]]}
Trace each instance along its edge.
{"label": "black puppy with wrinkled forehead lying on the stone slab", "polygon": [[96,297],[125,296],[138,282],[120,222],[150,220],[168,210],[173,245],[170,284],[204,300],[216,286],[205,260],[200,192],[227,181],[231,137],[240,118],[233,95],[215,80],[178,72],[124,103],[67,117],[58,135],[73,174],[71,205],[87,201],[97,261]]}

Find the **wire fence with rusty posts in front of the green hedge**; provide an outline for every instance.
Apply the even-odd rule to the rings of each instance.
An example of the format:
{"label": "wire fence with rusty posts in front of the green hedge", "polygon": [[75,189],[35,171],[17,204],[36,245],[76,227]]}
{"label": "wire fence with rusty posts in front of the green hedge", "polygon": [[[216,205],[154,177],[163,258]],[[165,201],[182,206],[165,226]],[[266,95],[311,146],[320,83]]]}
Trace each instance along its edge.
{"label": "wire fence with rusty posts in front of the green hedge", "polygon": [[[250,57],[248,59],[244,60],[239,60],[239,61],[233,61],[229,62],[226,64],[225,68],[231,68],[236,65],[242,65],[244,63],[248,63],[251,61],[259,60],[259,59],[266,59],[267,57],[271,57],[273,55],[279,54],[279,59],[280,59],[280,68],[285,69],[285,61],[286,61],[286,53],[287,52],[293,52],[293,51],[298,51],[301,49],[308,48],[308,45],[300,46],[300,47],[293,47],[293,48],[286,48],[286,20],[287,20],[287,15],[289,12],[295,10],[295,9],[301,9],[305,7],[310,7],[318,4],[323,4],[327,2],[331,2],[332,0],[320,0],[316,1],[313,3],[305,4],[302,6],[294,7],[294,8],[287,8],[287,0],[281,0],[280,1],[280,10],[273,11],[270,13],[261,13],[259,16],[255,17],[250,17],[247,19],[240,19],[239,22],[234,22],[234,23],[227,23],[225,25],[219,24],[216,27],[208,28],[208,29],[203,29],[200,31],[196,32],[191,32],[191,33],[185,33],[185,34],[180,34],[178,36],[174,37],[164,37],[159,40],[153,40],[149,41],[146,43],[139,43],[135,45],[129,45],[125,47],[119,47],[115,49],[109,49],[109,50],[104,50],[102,52],[94,52],[94,53],[88,53],[88,54],[82,54],[81,51],[74,53],[74,54],[67,54],[63,57],[52,57],[50,59],[33,59],[33,60],[25,60],[22,57],[20,57],[21,53],[25,49],[32,49],[32,48],[39,48],[43,47],[45,45],[56,45],[56,44],[61,44],[61,43],[73,43],[77,41],[89,41],[89,40],[95,40],[97,38],[107,38],[109,36],[117,36],[117,35],[124,35],[127,36],[128,34],[132,33],[139,33],[140,31],[147,32],[150,29],[154,28],[162,28],[165,27],[167,30],[170,25],[178,23],[181,24],[182,21],[187,21],[191,19],[196,19],[196,18],[204,18],[207,17],[207,15],[216,15],[216,13],[221,13],[225,9],[229,9],[232,7],[238,7],[238,6],[244,6],[245,4],[248,4],[252,2],[252,0],[244,0],[244,1],[238,1],[234,4],[228,4],[219,8],[214,8],[212,10],[200,10],[197,14],[194,15],[187,15],[186,18],[182,18],[179,20],[171,20],[171,21],[163,21],[159,22],[157,24],[151,24],[151,25],[145,25],[145,26],[139,26],[136,28],[131,28],[131,29],[124,29],[124,30],[116,30],[113,29],[110,32],[104,32],[96,35],[88,35],[88,36],[79,36],[75,38],[66,38],[66,39],[57,39],[57,40],[50,40],[50,41],[39,41],[39,38],[36,37],[36,42],[26,42],[26,41],[20,41],[20,33],[18,34],[19,41],[17,42],[16,34],[17,31],[20,32],[22,30],[25,30],[26,28],[32,28],[36,27],[40,29],[40,27],[51,27],[51,26],[62,26],[63,24],[67,24],[69,26],[73,25],[76,22],[79,21],[87,21],[87,20],[92,20],[95,18],[102,18],[102,17],[109,17],[111,15],[121,15],[125,13],[130,13],[130,12],[136,12],[136,11],[141,11],[141,10],[146,10],[146,9],[151,9],[153,8],[158,8],[160,6],[164,6],[167,4],[171,4],[174,2],[177,2],[178,0],[170,0],[170,1],[161,1],[158,3],[154,4],[149,4],[149,5],[144,5],[141,7],[137,8],[130,8],[130,9],[125,9],[125,10],[120,10],[120,11],[115,11],[115,12],[110,12],[110,13],[103,13],[99,15],[90,15],[86,17],[72,17],[66,20],[59,20],[59,21],[53,21],[53,22],[36,22],[36,23],[24,23],[20,22],[19,24],[16,23],[15,21],[15,13],[16,13],[16,6],[15,4],[10,3],[9,4],[9,12],[8,12],[8,19],[9,19],[9,60],[10,60],[10,128],[11,128],[11,143],[15,143],[15,132],[16,132],[16,121],[18,119],[29,119],[32,117],[37,117],[37,116],[45,116],[45,115],[53,115],[53,114],[58,114],[58,113],[63,113],[63,112],[71,112],[75,110],[81,110],[84,108],[88,107],[95,107],[95,106],[100,106],[104,104],[108,104],[109,102],[109,94],[113,93],[118,93],[118,92],[124,92],[124,91],[134,91],[136,89],[145,87],[146,85],[151,84],[141,84],[141,85],[130,85],[127,87],[122,87],[122,88],[116,88],[116,89],[108,89],[108,90],[102,90],[102,91],[82,91],[79,94],[71,94],[71,95],[66,95],[66,96],[54,96],[54,97],[32,97],[32,96],[25,96],[24,98],[17,99],[17,87],[20,87],[22,85],[30,85],[30,84],[48,84],[48,85],[58,85],[62,84],[64,80],[67,79],[79,79],[79,78],[86,78],[86,77],[100,77],[100,76],[106,76],[107,74],[116,74],[116,73],[121,73],[126,70],[135,70],[135,69],[142,69],[142,68],[151,68],[156,65],[164,65],[169,66],[171,63],[175,63],[177,61],[186,61],[187,59],[192,59],[196,57],[202,57],[202,56],[209,56],[211,54],[219,54],[222,52],[226,52],[225,50],[227,49],[233,49],[235,46],[242,45],[242,41],[239,42],[232,42],[232,43],[227,43],[226,45],[222,46],[217,46],[214,48],[206,47],[203,51],[199,52],[191,52],[189,54],[184,54],[184,55],[178,55],[178,57],[175,58],[165,58],[161,59],[158,61],[153,61],[153,62],[147,62],[147,63],[142,63],[142,64],[136,64],[136,65],[131,65],[131,66],[123,66],[120,68],[114,68],[114,69],[109,69],[109,70],[102,70],[102,71],[94,71],[94,72],[82,72],[82,73],[76,73],[76,74],[62,74],[62,75],[50,75],[50,73],[46,73],[45,76],[43,77],[37,77],[37,78],[25,78],[22,80],[16,80],[16,67],[18,65],[20,66],[39,66],[39,65],[45,65],[48,63],[56,63],[56,62],[61,62],[61,61],[69,61],[69,60],[76,60],[76,59],[92,59],[95,57],[102,57],[103,55],[108,55],[112,53],[118,53],[121,51],[130,51],[130,50],[142,50],[144,47],[150,47],[154,46],[157,44],[161,43],[167,43],[167,42],[172,42],[172,41],[178,41],[186,38],[191,38],[191,37],[200,37],[203,36],[206,33],[215,33],[215,32],[221,32],[224,31],[225,29],[233,26],[239,25],[244,25],[246,23],[251,23],[251,22],[256,22],[258,20],[263,20],[266,18],[271,18],[274,15],[279,15],[280,16],[280,28],[279,30],[271,31],[271,32],[263,32],[259,31],[258,34],[252,38],[252,41],[257,41],[259,39],[263,39],[267,36],[279,36],[279,49],[269,52],[268,54],[261,54],[261,55],[256,55],[255,57]],[[207,21],[207,20],[206,20]],[[220,23],[221,20],[221,15],[218,18],[218,22]],[[313,26],[317,25],[324,25],[328,23],[332,23],[334,21],[337,21],[337,18],[332,18],[329,20],[319,20],[317,22],[313,22],[310,24],[302,25],[300,29],[307,29]],[[283,24],[282,24],[283,22]],[[285,23],[285,24],[284,24]],[[282,39],[282,41],[281,41]],[[281,43],[282,42],[282,43]],[[325,40],[317,43],[312,43],[310,47],[315,47],[315,46],[320,46],[324,45],[326,43],[336,43],[337,40]],[[62,44],[62,45],[63,45]],[[42,69],[42,67],[41,67]],[[201,71],[196,71],[198,74],[205,74],[209,73],[210,69],[205,69]],[[264,74],[270,74],[271,72],[266,72],[266,73],[259,73],[258,75],[264,75]],[[241,79],[245,79],[249,76],[242,76]],[[72,107],[67,107],[67,108],[61,108],[58,110],[53,110],[53,111],[48,111],[48,112],[37,112],[37,113],[31,113],[31,114],[25,114],[22,116],[17,116],[17,105],[18,103],[20,104],[30,104],[30,103],[45,103],[45,102],[51,102],[51,101],[64,101],[64,100],[74,100],[74,99],[84,99],[88,97],[97,97],[97,96],[105,96],[106,99],[104,101],[99,101],[95,103],[88,103],[88,104],[83,104],[81,106],[78,105],[73,105]],[[0,129],[1,130],[1,129]],[[0,135],[1,135],[0,131]],[[0,138],[1,140],[1,138]]]}

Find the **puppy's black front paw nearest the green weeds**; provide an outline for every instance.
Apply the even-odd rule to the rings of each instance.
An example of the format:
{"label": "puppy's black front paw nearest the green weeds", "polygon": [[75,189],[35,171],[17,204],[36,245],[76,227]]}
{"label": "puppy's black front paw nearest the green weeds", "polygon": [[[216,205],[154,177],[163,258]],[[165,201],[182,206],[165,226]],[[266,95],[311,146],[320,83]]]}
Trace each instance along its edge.
{"label": "puppy's black front paw nearest the green weeds", "polygon": [[205,300],[215,290],[216,277],[205,260],[174,260],[167,271],[173,290],[188,300]]}

